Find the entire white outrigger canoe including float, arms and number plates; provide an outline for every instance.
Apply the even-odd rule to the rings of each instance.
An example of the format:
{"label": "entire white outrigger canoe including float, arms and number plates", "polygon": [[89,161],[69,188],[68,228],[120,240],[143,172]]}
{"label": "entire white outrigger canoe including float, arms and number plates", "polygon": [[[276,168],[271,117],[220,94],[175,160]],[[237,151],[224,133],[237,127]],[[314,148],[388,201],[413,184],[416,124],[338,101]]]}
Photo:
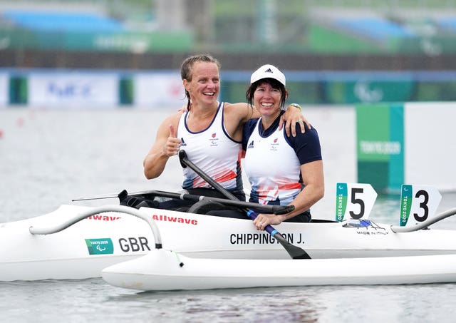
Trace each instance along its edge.
{"label": "entire white outrigger canoe including float, arms and number plates", "polygon": [[[247,217],[214,217],[197,207],[61,205],[0,224],[0,281],[103,277],[140,290],[456,282],[455,230],[427,230],[456,214],[433,216],[441,198],[435,190],[403,185],[400,225],[367,219],[376,198],[371,185],[337,183],[337,190],[336,220],[282,222],[266,232]],[[217,202],[249,209],[252,218],[252,209],[289,212],[186,193],[135,195]]]}

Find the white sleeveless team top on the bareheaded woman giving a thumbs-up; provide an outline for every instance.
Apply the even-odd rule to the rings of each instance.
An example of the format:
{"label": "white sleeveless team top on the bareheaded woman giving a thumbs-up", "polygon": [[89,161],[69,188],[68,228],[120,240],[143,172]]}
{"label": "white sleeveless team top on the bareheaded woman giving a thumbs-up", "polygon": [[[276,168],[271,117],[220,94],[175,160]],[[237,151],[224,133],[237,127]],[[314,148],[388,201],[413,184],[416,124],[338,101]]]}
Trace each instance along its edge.
{"label": "white sleeveless team top on the bareheaded woman giving a thumbs-up", "polygon": [[[181,149],[187,157],[211,178],[227,190],[242,189],[240,155],[241,142],[229,137],[223,124],[223,106],[219,103],[214,120],[208,128],[194,133],[187,128],[188,113],[180,117],[177,137],[182,140]],[[190,168],[183,168],[182,188],[211,188],[205,180]]]}

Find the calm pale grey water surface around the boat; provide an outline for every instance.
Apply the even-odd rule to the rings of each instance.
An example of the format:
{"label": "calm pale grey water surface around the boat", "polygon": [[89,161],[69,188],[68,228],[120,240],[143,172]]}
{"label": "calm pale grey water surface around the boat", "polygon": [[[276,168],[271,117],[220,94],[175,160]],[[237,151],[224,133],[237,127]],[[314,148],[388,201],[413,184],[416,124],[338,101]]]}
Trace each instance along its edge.
{"label": "calm pale grey water surface around the boat", "polygon": [[[42,215],[74,198],[116,195],[124,188],[178,190],[177,159],[156,180],[142,175],[142,158],[169,112],[0,110],[0,222]],[[333,186],[355,178],[354,115],[346,108],[306,112],[320,133],[325,158],[327,193],[314,207],[314,217],[332,219]],[[341,123],[347,128],[338,128]],[[442,195],[438,212],[456,206],[455,193]],[[118,200],[82,204],[110,202]],[[398,196],[380,196],[371,219],[398,224],[398,207]],[[456,229],[456,219],[433,227]],[[455,287],[135,292],[101,279],[11,282],[0,283],[0,313],[1,322],[454,322]]]}

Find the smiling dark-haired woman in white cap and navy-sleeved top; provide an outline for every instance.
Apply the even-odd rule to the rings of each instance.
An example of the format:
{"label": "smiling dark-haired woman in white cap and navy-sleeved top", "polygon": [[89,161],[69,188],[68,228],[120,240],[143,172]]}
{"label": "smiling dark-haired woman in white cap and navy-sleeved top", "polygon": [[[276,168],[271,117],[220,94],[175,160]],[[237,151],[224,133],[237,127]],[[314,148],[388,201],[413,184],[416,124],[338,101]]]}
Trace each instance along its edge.
{"label": "smiling dark-haired woman in white cap and navy-sleeved top", "polygon": [[244,125],[242,148],[244,170],[252,190],[250,202],[294,205],[284,215],[259,214],[254,225],[282,221],[309,222],[310,207],[324,195],[323,160],[318,133],[314,127],[298,131],[296,137],[279,130],[279,119],[288,96],[284,73],[264,65],[252,73],[247,89],[247,102],[257,108],[261,118]]}

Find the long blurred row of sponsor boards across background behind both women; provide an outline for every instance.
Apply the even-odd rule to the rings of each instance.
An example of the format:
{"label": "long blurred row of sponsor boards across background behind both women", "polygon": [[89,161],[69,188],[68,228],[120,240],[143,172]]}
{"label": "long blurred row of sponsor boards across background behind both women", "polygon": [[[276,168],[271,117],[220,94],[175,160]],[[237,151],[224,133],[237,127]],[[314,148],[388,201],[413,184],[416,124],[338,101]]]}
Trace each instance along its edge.
{"label": "long blurred row of sponsor boards across background behind both women", "polygon": [[[282,71],[287,76],[290,102],[353,105],[456,101],[456,71]],[[219,100],[245,101],[250,74],[251,71],[222,69]],[[94,103],[92,108],[96,108],[98,103],[101,106],[112,104],[113,108],[180,107],[185,101],[180,72],[177,70],[0,68],[0,75],[9,84],[9,94],[2,101],[11,106],[39,108],[47,100],[46,96],[51,101],[61,101],[64,97],[71,101],[70,96],[81,100],[84,93],[83,100]],[[102,91],[101,83],[95,84],[96,88],[90,90],[81,88],[95,79],[95,82],[105,84],[103,91],[107,91],[106,98],[95,98],[95,91]],[[90,96],[87,91],[90,91]]]}

